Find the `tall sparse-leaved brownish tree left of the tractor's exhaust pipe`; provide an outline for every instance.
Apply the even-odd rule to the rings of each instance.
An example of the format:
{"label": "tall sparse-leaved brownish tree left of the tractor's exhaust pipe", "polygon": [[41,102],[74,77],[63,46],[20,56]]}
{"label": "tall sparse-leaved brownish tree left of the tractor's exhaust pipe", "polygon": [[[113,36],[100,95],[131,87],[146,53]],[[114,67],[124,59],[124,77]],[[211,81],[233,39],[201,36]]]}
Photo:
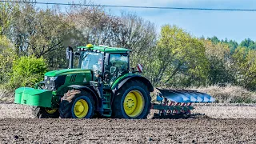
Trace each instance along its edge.
{"label": "tall sparse-leaved brownish tree left of the tractor's exhaust pipe", "polygon": [[[43,56],[49,66],[65,58],[63,39],[70,26],[64,21],[64,15],[57,10],[43,10],[30,4],[21,4],[14,14],[12,29],[11,38],[20,55],[34,55],[36,58]],[[52,53],[55,55],[50,57]]]}

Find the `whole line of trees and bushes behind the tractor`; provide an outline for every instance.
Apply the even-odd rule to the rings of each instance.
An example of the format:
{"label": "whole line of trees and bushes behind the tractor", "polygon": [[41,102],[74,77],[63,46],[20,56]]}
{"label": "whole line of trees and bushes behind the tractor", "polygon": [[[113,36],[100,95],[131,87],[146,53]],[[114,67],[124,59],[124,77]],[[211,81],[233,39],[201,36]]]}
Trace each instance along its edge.
{"label": "whole line of trees and bushes behind the tractor", "polygon": [[116,16],[102,7],[41,8],[0,2],[0,85],[14,90],[42,81],[46,70],[67,67],[67,46],[126,47],[132,66],[142,63],[154,86],[243,86],[256,90],[256,42],[196,38],[133,13]]}

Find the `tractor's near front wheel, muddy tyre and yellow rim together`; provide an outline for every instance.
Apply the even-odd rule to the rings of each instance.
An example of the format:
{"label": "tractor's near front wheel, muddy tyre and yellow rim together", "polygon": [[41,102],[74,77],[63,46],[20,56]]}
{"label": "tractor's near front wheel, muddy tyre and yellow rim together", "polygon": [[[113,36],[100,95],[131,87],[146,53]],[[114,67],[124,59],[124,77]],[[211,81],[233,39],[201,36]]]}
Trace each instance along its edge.
{"label": "tractor's near front wheel, muddy tyre and yellow rim together", "polygon": [[59,106],[61,118],[92,118],[95,102],[86,91],[69,90],[64,94]]}

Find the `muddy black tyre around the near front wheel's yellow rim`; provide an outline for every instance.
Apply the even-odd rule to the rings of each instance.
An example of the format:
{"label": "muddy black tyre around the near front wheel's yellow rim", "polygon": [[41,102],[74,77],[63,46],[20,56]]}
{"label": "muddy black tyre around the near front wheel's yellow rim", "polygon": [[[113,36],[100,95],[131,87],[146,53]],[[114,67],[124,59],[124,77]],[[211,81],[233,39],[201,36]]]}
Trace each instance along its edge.
{"label": "muddy black tyre around the near front wheel's yellow rim", "polygon": [[94,116],[95,102],[94,98],[86,91],[69,90],[64,94],[60,106],[59,114],[61,118],[78,118],[74,114],[74,104],[79,99],[83,99],[87,102],[89,110],[84,118],[92,118]]}

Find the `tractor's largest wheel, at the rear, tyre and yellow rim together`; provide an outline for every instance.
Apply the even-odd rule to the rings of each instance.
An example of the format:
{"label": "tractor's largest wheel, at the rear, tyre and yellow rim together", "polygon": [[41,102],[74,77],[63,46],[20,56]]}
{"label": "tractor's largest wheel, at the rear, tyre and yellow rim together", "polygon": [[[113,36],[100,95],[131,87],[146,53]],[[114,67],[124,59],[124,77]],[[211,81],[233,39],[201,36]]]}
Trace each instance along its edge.
{"label": "tractor's largest wheel, at the rear, tyre and yellow rim together", "polygon": [[150,92],[142,82],[126,82],[114,95],[113,118],[146,118],[150,113]]}

